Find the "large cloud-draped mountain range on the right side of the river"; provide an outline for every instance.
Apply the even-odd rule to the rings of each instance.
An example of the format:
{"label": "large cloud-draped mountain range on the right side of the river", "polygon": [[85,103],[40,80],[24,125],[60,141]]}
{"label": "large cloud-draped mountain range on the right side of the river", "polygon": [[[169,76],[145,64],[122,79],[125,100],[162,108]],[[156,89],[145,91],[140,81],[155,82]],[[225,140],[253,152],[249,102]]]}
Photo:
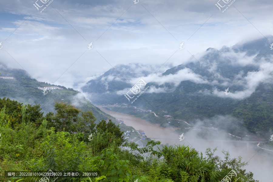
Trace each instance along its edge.
{"label": "large cloud-draped mountain range on the right side of the river", "polygon": [[[272,36],[269,39],[273,41]],[[159,113],[161,119],[153,113],[149,116],[140,114],[138,109],[118,108],[118,112],[133,114],[153,123],[167,123],[164,115],[172,116],[173,121],[179,119],[190,123],[228,115],[237,118],[237,122],[242,120],[240,125],[251,133],[265,133],[273,130],[273,52],[269,46],[268,40],[257,39],[232,47],[223,46],[219,50],[208,48],[153,80],[150,79],[153,72],[127,76],[130,70],[126,72],[126,66],[120,65],[117,71],[110,69],[107,74],[90,80],[83,90],[90,95],[96,93],[96,97],[103,97],[96,100],[99,104],[126,103]],[[120,75],[124,73],[131,85],[117,73],[121,68],[124,69],[119,72]],[[145,86],[149,86],[149,89],[135,102],[131,103],[136,97],[128,102],[124,95],[140,78],[150,80]],[[120,79],[118,84],[115,79]],[[90,83],[99,84],[100,89],[86,89]],[[224,92],[227,88],[226,95]],[[221,128],[223,122],[211,121],[210,124]],[[171,122],[171,125],[181,126],[177,121]]]}

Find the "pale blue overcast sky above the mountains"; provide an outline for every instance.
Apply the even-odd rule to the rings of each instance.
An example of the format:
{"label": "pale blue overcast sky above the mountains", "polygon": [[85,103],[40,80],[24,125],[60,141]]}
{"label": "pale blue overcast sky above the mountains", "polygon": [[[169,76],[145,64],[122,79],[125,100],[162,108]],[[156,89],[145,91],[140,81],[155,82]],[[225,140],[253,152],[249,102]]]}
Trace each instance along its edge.
{"label": "pale blue overcast sky above the mountains", "polygon": [[[232,2],[225,1],[218,4]],[[270,1],[236,0],[224,12],[215,4],[1,0],[0,61],[39,81],[77,89],[116,65],[149,64],[159,75],[209,47],[272,34]]]}

